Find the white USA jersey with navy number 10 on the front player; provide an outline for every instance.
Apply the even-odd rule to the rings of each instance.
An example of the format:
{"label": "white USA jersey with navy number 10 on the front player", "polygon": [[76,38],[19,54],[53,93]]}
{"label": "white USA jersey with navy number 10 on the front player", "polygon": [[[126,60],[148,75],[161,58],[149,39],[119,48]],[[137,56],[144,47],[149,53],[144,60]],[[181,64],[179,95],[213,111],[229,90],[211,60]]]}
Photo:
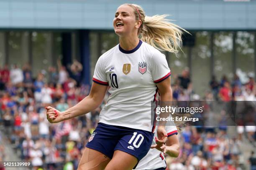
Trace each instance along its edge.
{"label": "white USA jersey with navy number 10 on the front player", "polygon": [[93,75],[94,82],[110,86],[100,122],[154,133],[151,102],[156,100],[156,83],[170,74],[165,55],[141,40],[133,50],[116,45],[105,52]]}

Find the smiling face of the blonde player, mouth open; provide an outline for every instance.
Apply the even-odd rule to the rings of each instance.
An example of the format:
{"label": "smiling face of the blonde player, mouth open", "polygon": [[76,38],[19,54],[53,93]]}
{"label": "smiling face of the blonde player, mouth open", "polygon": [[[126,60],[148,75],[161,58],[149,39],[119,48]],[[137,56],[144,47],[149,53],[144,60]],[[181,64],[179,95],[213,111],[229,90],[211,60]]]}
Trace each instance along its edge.
{"label": "smiling face of the blonde player, mouth open", "polygon": [[120,37],[138,32],[139,24],[135,20],[133,12],[133,8],[128,5],[118,7],[113,20],[113,26],[115,33]]}

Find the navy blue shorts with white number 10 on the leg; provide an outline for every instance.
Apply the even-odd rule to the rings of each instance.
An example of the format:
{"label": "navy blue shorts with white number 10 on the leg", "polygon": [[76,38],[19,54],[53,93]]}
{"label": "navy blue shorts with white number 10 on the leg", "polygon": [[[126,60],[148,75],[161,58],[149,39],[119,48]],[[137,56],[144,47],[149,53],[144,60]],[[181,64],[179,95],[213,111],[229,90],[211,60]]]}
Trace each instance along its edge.
{"label": "navy blue shorts with white number 10 on the leg", "polygon": [[154,133],[146,130],[98,123],[86,147],[97,150],[110,159],[115,150],[121,150],[140,161],[148,153],[153,137]]}

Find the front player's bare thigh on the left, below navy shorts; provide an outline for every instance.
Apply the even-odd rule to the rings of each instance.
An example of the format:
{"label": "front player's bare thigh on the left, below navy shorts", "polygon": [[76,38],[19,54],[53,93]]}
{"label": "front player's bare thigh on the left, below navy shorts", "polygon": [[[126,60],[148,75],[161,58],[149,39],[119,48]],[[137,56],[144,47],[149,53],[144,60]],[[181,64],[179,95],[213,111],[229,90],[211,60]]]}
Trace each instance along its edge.
{"label": "front player's bare thigh on the left, below navy shorts", "polygon": [[104,170],[110,158],[103,153],[85,147],[78,170]]}

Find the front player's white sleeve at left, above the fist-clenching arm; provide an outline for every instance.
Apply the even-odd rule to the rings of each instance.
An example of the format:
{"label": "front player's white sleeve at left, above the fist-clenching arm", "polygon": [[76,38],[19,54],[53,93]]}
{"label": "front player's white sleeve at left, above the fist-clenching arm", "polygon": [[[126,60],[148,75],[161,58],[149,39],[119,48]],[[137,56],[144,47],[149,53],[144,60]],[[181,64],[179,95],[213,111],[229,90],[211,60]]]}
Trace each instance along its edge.
{"label": "front player's white sleeve at left, above the fist-clenching arm", "polygon": [[108,85],[107,76],[104,69],[103,58],[100,57],[96,63],[92,81],[100,85]]}

